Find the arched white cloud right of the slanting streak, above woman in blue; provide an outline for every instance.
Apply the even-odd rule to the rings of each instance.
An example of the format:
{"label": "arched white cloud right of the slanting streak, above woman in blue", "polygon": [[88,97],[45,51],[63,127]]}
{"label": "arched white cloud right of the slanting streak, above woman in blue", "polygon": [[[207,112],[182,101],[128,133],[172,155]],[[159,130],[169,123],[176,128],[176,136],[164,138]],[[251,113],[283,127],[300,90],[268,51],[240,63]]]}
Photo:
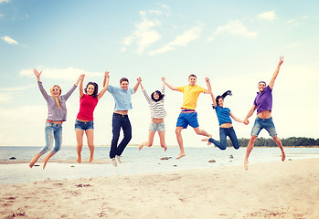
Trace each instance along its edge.
{"label": "arched white cloud right of the slanting streak, above woman in blue", "polygon": [[254,38],[258,36],[258,32],[249,31],[239,20],[236,20],[230,21],[225,26],[218,26],[218,29],[214,32],[213,36],[208,38],[208,41],[213,40],[214,36],[224,32],[228,32],[229,34],[237,36],[245,36],[248,38]]}

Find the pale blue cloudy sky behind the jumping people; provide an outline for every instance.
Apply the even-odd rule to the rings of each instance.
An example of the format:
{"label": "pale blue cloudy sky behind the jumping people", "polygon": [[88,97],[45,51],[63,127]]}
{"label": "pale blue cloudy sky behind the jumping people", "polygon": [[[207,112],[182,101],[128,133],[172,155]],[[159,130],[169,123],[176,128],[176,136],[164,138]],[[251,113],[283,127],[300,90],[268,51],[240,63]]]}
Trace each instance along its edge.
{"label": "pale blue cloudy sky behind the jumping people", "polygon": [[[318,139],[319,2],[255,0],[0,0],[0,146],[43,146],[48,108],[32,69],[42,71],[45,89],[58,84],[67,92],[80,74],[84,84],[102,86],[122,77],[130,87],[141,77],[151,94],[167,83],[179,87],[197,75],[210,78],[217,96],[239,119],[252,107],[258,82],[267,83],[284,57],[273,87],[272,118],[280,138]],[[49,92],[49,91],[48,91]],[[165,89],[165,140],[177,145],[175,123],[183,94]],[[150,110],[141,89],[132,96],[130,144],[147,140]],[[210,95],[197,101],[199,128],[218,139],[218,119]],[[75,146],[74,121],[79,89],[67,101],[63,145]],[[110,145],[114,100],[108,92],[94,112],[94,144]],[[238,138],[250,138],[250,124],[233,121]],[[185,147],[205,146],[188,127]],[[269,138],[266,130],[261,137]],[[84,138],[86,141],[86,138]],[[156,135],[154,144],[159,144]]]}

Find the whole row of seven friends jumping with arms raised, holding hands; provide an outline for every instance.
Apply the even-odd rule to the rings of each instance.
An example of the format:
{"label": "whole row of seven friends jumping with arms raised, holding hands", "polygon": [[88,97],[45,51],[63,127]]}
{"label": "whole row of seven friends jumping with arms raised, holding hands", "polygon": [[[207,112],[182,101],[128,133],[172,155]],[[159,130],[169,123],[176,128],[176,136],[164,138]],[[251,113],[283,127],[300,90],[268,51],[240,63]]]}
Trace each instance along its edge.
{"label": "whole row of seven friends jumping with arms raised, holding hands", "polygon": [[[165,86],[169,89],[176,90],[183,93],[183,105],[181,112],[178,116],[175,128],[176,140],[179,146],[180,153],[176,159],[181,159],[186,156],[186,152],[183,144],[182,130],[186,129],[187,126],[191,126],[197,135],[206,136],[207,138],[202,141],[207,141],[207,144],[215,144],[220,150],[226,150],[227,148],[227,136],[235,149],[239,149],[239,141],[236,136],[236,132],[232,125],[232,120],[236,120],[245,125],[249,124],[249,118],[253,115],[254,111],[257,110],[257,117],[252,127],[250,134],[250,141],[247,145],[246,155],[244,159],[244,168],[248,170],[248,159],[250,152],[253,149],[254,143],[261,132],[265,129],[271,135],[271,138],[276,142],[280,150],[282,151],[282,162],[285,160],[285,153],[282,147],[282,141],[278,138],[275,126],[271,117],[272,109],[272,88],[274,82],[278,76],[279,70],[283,63],[283,57],[280,57],[277,68],[275,69],[271,81],[267,86],[266,82],[260,81],[258,83],[259,92],[254,99],[253,105],[248,112],[244,120],[239,120],[234,116],[229,108],[224,108],[224,99],[227,96],[231,96],[231,90],[226,91],[222,95],[218,95],[216,98],[211,89],[209,78],[205,78],[207,83],[207,89],[197,86],[197,76],[192,74],[188,77],[188,85],[183,87],[174,87],[168,84],[164,77],[162,77],[163,87],[161,90],[155,90],[151,96],[148,95],[142,85],[142,79],[137,78],[135,86],[129,88],[129,80],[127,78],[121,78],[120,87],[115,87],[109,84],[110,73],[106,71],[104,73],[103,88],[98,91],[98,84],[95,82],[89,82],[85,89],[83,89],[84,74],[81,74],[75,84],[69,91],[61,95],[61,89],[58,85],[54,85],[50,89],[50,95],[44,89],[40,76],[42,71],[38,72],[34,69],[33,72],[37,77],[37,85],[42,93],[44,99],[48,104],[48,118],[45,125],[45,139],[46,145],[37,152],[29,163],[29,167],[32,168],[37,160],[48,152],[48,155],[43,158],[43,169],[45,169],[48,160],[56,154],[62,145],[62,123],[67,119],[67,107],[66,101],[69,99],[73,91],[79,86],[80,90],[80,110],[75,120],[75,134],[77,140],[77,162],[81,162],[81,151],[83,147],[83,135],[84,132],[87,136],[88,147],[90,150],[89,162],[93,161],[94,154],[94,143],[93,143],[93,112],[97,106],[101,97],[106,91],[112,94],[115,101],[114,112],[112,114],[112,142],[110,149],[110,158],[112,164],[117,166],[121,163],[122,152],[125,147],[132,139],[132,126],[129,120],[128,111],[132,110],[131,96],[136,93],[137,89],[141,86],[144,97],[149,104],[151,111],[151,122],[148,131],[148,140],[143,141],[139,145],[139,150],[142,150],[144,146],[151,147],[154,141],[154,134],[157,131],[160,139],[161,147],[167,150],[165,143],[165,117],[167,115],[165,111]],[[197,120],[197,99],[200,93],[209,94],[213,101],[213,109],[216,110],[216,114],[219,122],[219,137],[220,141],[215,140],[211,134],[208,134],[206,130],[200,130]],[[120,143],[120,132],[123,132],[123,139]],[[53,143],[55,145],[53,147]]]}

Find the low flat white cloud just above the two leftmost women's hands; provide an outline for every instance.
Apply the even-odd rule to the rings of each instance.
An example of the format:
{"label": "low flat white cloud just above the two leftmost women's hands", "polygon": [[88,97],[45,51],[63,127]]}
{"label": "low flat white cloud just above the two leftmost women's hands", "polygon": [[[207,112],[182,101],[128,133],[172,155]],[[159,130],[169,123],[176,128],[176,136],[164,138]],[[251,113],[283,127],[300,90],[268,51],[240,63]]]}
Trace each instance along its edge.
{"label": "low flat white cloud just above the two leftmost women's hands", "polygon": [[[85,74],[86,76],[94,77],[94,76],[103,76],[103,72],[90,72],[83,69],[77,68],[37,68],[38,71],[42,71],[41,78],[51,78],[51,79],[64,79],[64,80],[71,80],[76,81],[79,78],[80,74]],[[33,73],[33,69],[22,69],[20,71],[21,76],[27,77],[35,77]]]}

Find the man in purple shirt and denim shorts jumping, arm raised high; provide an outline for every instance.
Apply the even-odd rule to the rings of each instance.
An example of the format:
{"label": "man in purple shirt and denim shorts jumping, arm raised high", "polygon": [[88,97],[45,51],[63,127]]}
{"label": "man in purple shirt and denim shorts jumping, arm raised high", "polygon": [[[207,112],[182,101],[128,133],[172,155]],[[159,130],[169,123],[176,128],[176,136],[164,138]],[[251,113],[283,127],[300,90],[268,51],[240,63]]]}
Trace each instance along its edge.
{"label": "man in purple shirt and denim shorts jumping, arm raised high", "polygon": [[246,170],[248,170],[248,158],[250,156],[250,152],[252,151],[254,143],[258,137],[258,134],[261,132],[262,129],[265,129],[268,131],[273,141],[275,141],[278,147],[281,149],[282,162],[284,162],[286,158],[285,153],[283,151],[283,147],[282,147],[282,141],[277,137],[277,132],[275,130],[275,126],[271,118],[272,88],[273,88],[275,79],[278,76],[279,69],[282,66],[282,63],[283,63],[283,57],[280,57],[278,66],[272,75],[271,82],[269,83],[267,87],[266,87],[266,82],[264,81],[261,81],[258,84],[258,89],[260,90],[260,92],[257,93],[257,97],[254,100],[253,106],[248,112],[244,120],[244,123],[247,125],[249,123],[248,119],[253,114],[253,112],[257,109],[257,118],[251,130],[250,142],[247,145],[246,156],[244,160],[244,167]]}

